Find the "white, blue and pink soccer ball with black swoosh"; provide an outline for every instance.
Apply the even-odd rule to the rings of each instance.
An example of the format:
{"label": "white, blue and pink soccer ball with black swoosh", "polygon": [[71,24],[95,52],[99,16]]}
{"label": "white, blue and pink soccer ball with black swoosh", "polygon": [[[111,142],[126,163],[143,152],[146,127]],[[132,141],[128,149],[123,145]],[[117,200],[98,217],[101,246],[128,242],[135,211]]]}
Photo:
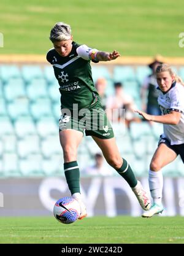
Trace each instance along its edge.
{"label": "white, blue and pink soccer ball with black swoosh", "polygon": [[56,201],[53,214],[59,222],[71,224],[79,218],[80,205],[74,198],[66,196]]}

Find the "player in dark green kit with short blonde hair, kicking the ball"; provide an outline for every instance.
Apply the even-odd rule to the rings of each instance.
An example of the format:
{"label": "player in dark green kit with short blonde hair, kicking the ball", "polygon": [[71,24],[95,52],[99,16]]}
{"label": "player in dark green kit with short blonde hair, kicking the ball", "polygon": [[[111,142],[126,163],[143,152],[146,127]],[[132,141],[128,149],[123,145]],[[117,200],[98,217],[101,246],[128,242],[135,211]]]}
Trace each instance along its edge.
{"label": "player in dark green kit with short blonde hair, kicking the ball", "polygon": [[[83,138],[92,136],[109,163],[130,185],[140,206],[150,208],[150,199],[137,181],[131,167],[118,152],[112,127],[101,106],[94,87],[90,61],[115,60],[120,54],[102,52],[72,41],[71,27],[58,22],[50,31],[53,47],[47,53],[47,60],[53,65],[55,77],[61,93],[61,118],[59,119],[59,139],[63,148],[64,174],[75,200],[79,201],[81,214],[86,217],[86,208],[82,202],[77,164],[77,147]],[[122,141],[123,143],[123,141]]]}

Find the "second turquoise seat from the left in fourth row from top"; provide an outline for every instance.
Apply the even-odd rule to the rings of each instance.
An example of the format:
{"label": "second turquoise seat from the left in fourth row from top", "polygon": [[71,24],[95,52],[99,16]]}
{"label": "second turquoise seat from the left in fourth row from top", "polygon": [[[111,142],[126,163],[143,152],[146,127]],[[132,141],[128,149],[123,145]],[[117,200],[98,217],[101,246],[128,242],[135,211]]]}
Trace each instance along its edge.
{"label": "second turquoise seat from the left in fourth row from top", "polygon": [[31,117],[20,117],[15,120],[15,133],[18,138],[25,138],[29,135],[37,135],[35,123]]}

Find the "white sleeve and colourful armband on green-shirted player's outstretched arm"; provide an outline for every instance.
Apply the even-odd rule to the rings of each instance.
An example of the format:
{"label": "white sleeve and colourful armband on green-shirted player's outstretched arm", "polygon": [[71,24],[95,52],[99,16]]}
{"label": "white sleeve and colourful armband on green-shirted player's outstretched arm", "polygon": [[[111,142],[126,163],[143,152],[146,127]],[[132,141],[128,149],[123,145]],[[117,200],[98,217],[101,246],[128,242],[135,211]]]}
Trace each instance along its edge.
{"label": "white sleeve and colourful armband on green-shirted player's outstretched arm", "polygon": [[83,44],[80,45],[77,48],[77,54],[83,58],[84,60],[94,60],[94,61],[98,61],[96,59],[96,54],[98,53],[97,49],[92,49],[89,48],[87,45]]}

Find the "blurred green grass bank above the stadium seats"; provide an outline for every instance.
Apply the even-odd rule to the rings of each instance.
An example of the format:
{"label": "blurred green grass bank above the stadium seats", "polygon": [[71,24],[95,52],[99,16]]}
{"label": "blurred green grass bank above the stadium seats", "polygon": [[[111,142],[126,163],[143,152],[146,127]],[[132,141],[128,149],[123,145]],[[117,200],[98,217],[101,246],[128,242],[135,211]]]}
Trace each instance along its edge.
{"label": "blurred green grass bank above the stadium seats", "polygon": [[45,54],[57,21],[72,27],[74,40],[122,56],[184,56],[178,46],[183,0],[1,0],[0,53]]}

